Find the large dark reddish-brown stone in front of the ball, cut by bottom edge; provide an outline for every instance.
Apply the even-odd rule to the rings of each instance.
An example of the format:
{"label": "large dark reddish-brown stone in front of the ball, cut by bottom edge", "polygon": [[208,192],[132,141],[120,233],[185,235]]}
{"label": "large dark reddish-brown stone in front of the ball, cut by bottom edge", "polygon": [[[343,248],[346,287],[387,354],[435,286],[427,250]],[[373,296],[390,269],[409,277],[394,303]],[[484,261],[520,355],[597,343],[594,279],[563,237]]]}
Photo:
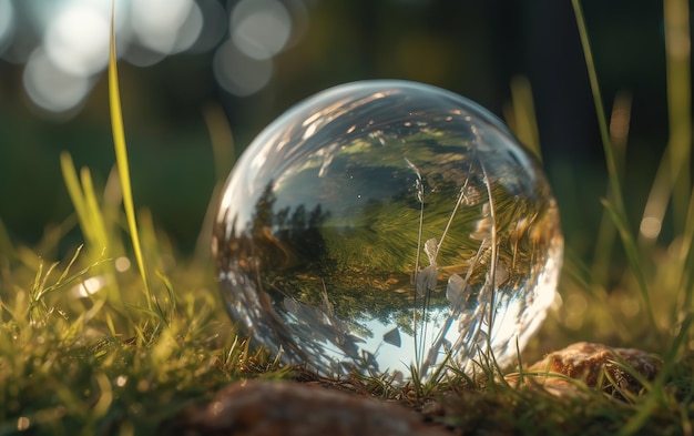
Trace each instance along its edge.
{"label": "large dark reddish-brown stone in front of the ball, cut by bottom edge", "polygon": [[[183,435],[450,435],[404,406],[296,382],[244,381],[184,409]],[[166,429],[164,429],[166,432]]]}

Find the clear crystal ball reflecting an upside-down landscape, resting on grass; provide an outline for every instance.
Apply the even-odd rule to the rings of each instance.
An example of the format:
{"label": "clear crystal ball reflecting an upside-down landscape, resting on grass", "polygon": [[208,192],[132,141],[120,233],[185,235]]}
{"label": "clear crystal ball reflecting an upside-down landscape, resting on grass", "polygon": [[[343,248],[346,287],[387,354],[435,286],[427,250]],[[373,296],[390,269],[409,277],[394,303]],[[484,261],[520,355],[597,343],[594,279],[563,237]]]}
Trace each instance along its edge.
{"label": "clear crystal ball reflecting an upside-down landscape, resting on grass", "polygon": [[248,145],[213,252],[231,317],[284,362],[428,379],[513,362],[554,298],[563,237],[538,161],[492,113],[363,81]]}

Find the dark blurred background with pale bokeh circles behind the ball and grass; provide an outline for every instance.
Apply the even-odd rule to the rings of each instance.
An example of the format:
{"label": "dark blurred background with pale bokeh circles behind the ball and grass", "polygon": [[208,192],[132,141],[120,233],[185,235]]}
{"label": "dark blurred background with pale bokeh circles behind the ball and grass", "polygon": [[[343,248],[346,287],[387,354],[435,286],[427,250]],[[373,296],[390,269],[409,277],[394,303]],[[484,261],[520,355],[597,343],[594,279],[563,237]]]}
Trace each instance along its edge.
{"label": "dark blurred background with pale bokeh circles behind the ball and grass", "polygon": [[[119,0],[115,7],[135,204],[152,211],[183,253],[193,249],[213,187],[231,169],[231,149],[213,151],[215,132],[228,125],[238,154],[302,99],[380,78],[446,88],[507,119],[513,84],[530,84],[568,246],[578,255],[593,247],[606,171],[569,0]],[[640,216],[667,140],[662,4],[585,0],[583,8],[608,110],[615,95],[631,101],[626,201]],[[106,183],[114,164],[110,19],[110,0],[0,1],[0,221],[16,242],[33,244],[71,215],[62,151],[89,166],[98,186]]]}

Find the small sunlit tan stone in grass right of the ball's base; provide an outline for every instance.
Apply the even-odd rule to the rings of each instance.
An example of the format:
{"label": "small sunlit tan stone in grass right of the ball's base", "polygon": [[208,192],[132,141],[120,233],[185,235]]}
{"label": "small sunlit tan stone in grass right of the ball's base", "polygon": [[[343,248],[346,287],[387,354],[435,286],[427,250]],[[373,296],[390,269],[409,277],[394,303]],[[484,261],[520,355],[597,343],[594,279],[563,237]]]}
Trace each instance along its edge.
{"label": "small sunlit tan stone in grass right of the ball's base", "polygon": [[[579,342],[548,354],[523,373],[525,384],[541,385],[558,396],[581,395],[578,384],[558,376],[559,374],[581,381],[591,388],[603,388],[612,393],[615,391],[639,393],[641,384],[620,361],[649,381],[655,378],[663,366],[663,361],[659,356],[641,349],[612,348],[603,344]],[[506,379],[514,386],[520,384],[519,374],[510,374]]]}

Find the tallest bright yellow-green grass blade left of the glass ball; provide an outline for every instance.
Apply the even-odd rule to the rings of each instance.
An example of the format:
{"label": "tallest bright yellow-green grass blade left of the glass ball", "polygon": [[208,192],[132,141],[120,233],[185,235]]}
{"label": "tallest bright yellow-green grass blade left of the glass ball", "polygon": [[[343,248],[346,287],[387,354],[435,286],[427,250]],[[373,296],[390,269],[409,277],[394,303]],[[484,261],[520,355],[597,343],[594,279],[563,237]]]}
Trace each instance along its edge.
{"label": "tallest bright yellow-green grass blade left of the glass ball", "polygon": [[113,130],[113,146],[115,149],[115,162],[118,165],[119,176],[121,179],[121,190],[123,193],[123,207],[125,209],[125,217],[127,220],[127,229],[133,243],[133,252],[137,261],[137,268],[142,277],[144,293],[147,300],[147,307],[152,310],[152,293],[147,272],[144,262],[144,255],[140,245],[140,235],[137,233],[137,222],[135,220],[135,207],[133,202],[132,186],[130,182],[130,166],[127,162],[127,149],[125,146],[125,131],[123,129],[123,113],[121,111],[121,97],[118,80],[118,68],[115,57],[115,2],[112,3],[111,13],[111,43],[109,57],[109,105],[111,108],[111,128]]}

